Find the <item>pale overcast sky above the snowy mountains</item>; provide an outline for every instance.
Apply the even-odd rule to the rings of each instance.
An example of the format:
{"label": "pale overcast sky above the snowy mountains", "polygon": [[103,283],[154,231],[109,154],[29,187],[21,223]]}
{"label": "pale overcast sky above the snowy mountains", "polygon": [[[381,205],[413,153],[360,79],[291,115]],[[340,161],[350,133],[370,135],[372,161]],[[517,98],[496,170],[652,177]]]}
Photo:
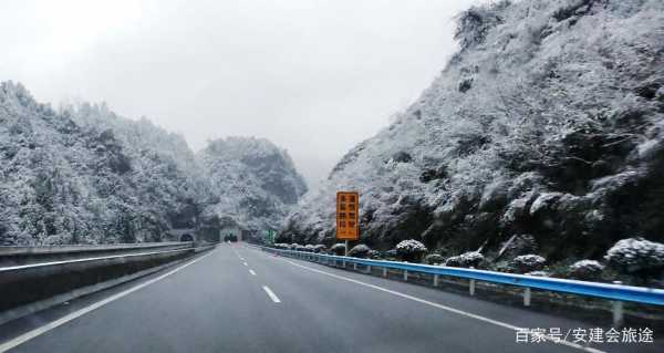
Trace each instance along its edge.
{"label": "pale overcast sky above the snowy mountains", "polygon": [[433,81],[480,0],[3,0],[0,80],[107,102],[198,150],[267,137],[317,185]]}

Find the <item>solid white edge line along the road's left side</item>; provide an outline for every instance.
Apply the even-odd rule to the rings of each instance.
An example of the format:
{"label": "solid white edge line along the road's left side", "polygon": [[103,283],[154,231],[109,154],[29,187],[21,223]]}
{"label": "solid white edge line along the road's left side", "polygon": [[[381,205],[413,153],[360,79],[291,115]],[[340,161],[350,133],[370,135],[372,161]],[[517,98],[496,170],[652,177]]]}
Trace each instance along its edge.
{"label": "solid white edge line along the road's left side", "polygon": [[81,309],[79,311],[74,311],[74,312],[72,312],[70,314],[66,314],[66,315],[64,315],[64,316],[55,320],[55,321],[52,321],[52,322],[50,322],[50,323],[48,323],[48,324],[45,324],[45,325],[43,325],[41,328],[37,328],[37,329],[32,330],[32,331],[28,331],[28,332],[21,334],[18,338],[11,339],[11,340],[9,340],[9,341],[0,344],[0,353],[4,353],[4,352],[7,352],[7,351],[9,351],[9,350],[11,350],[11,349],[20,345],[20,344],[23,344],[23,343],[25,343],[25,342],[28,342],[28,341],[37,338],[37,336],[39,336],[41,334],[44,334],[44,333],[46,333],[46,332],[49,332],[49,331],[51,331],[51,330],[53,330],[53,329],[55,329],[55,328],[58,328],[60,325],[63,325],[63,324],[72,321],[72,320],[74,320],[76,318],[83,316],[84,314],[86,314],[86,313],[89,313],[89,312],[91,312],[93,310],[100,309],[100,308],[106,305],[110,302],[116,301],[116,300],[118,300],[118,299],[121,299],[121,298],[123,298],[123,297],[125,297],[127,294],[131,294],[131,293],[133,293],[133,292],[135,292],[135,291],[137,291],[139,289],[143,289],[143,288],[145,288],[145,287],[147,287],[149,284],[153,284],[153,283],[155,283],[157,281],[160,281],[160,280],[167,278],[168,276],[174,274],[174,273],[178,272],[179,270],[186,268],[187,266],[194,264],[194,263],[203,260],[204,258],[207,258],[208,256],[212,255],[214,251],[215,250],[210,251],[209,253],[206,253],[206,255],[201,256],[198,259],[194,259],[194,260],[191,260],[191,261],[189,261],[189,262],[187,262],[187,263],[185,263],[185,264],[183,264],[183,266],[180,266],[180,267],[178,267],[178,268],[176,268],[174,270],[170,270],[170,271],[168,271],[168,272],[166,272],[166,273],[164,273],[164,274],[162,274],[159,277],[156,277],[156,278],[154,278],[154,279],[152,279],[149,281],[143,282],[143,283],[141,283],[138,285],[135,285],[135,287],[132,287],[132,288],[129,288],[129,289],[127,289],[125,291],[122,291],[120,293],[113,294],[113,295],[111,295],[111,297],[108,297],[108,298],[106,298],[104,300],[101,300],[101,301],[98,301],[96,303],[93,303],[93,304],[91,304],[89,307],[85,307],[85,308],[83,308],[83,309]]}

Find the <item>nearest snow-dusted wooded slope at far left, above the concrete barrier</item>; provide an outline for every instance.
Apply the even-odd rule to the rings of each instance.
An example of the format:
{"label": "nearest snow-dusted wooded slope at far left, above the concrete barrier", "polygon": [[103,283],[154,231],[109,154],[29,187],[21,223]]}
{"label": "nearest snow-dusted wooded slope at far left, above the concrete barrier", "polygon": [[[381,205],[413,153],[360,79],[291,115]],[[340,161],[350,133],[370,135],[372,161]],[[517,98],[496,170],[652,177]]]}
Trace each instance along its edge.
{"label": "nearest snow-dusted wooded slope at far left, above the concrete barrier", "polygon": [[11,82],[0,159],[0,245],[157,241],[190,198],[168,164],[142,163],[112,131],[85,131]]}

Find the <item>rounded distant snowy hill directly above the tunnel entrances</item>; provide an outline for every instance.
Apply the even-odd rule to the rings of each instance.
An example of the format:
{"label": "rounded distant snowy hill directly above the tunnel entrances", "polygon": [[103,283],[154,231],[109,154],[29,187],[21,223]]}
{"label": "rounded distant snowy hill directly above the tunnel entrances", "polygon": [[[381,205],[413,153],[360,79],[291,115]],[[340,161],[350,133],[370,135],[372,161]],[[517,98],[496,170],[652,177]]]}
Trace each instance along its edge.
{"label": "rounded distant snowy hill directly above the tunnel entrances", "polygon": [[247,230],[279,229],[307,184],[289,154],[264,138],[228,137],[198,154],[212,194],[212,214],[227,215]]}

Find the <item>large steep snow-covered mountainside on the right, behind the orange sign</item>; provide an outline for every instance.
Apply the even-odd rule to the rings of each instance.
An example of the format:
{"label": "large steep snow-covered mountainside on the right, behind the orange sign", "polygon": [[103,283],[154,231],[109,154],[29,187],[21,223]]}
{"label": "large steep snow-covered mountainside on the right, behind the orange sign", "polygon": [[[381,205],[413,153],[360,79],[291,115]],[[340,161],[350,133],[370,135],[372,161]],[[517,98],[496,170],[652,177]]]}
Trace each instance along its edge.
{"label": "large steep snow-covered mountainside on the right, behind the orange sign", "polygon": [[457,20],[440,75],[303,197],[282,241],[334,242],[338,190],[361,193],[361,240],[384,250],[496,253],[529,235],[557,260],[664,240],[664,2],[500,1]]}

